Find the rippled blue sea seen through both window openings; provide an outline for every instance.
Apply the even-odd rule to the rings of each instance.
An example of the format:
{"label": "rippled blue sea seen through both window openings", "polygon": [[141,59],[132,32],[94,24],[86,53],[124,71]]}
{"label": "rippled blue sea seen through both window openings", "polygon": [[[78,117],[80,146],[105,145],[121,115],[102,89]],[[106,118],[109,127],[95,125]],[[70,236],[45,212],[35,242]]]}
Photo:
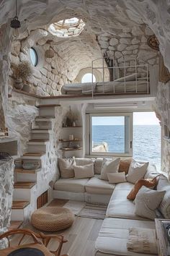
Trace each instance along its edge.
{"label": "rippled blue sea seen through both window openings", "polygon": [[[107,142],[108,151],[125,152],[125,131],[122,125],[93,125],[93,145]],[[161,169],[161,127],[159,125],[133,126],[133,158],[150,161]]]}

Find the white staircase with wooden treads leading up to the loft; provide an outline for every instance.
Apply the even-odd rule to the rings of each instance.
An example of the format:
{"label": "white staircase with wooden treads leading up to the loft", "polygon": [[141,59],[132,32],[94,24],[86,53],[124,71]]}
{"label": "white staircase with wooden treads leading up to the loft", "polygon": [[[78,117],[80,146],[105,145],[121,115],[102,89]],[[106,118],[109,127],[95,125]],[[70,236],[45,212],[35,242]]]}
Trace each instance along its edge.
{"label": "white staircase with wooden treads leading up to the loft", "polygon": [[40,115],[35,118],[31,138],[27,142],[27,152],[21,157],[23,162],[39,162],[40,168],[14,169],[11,223],[15,227],[21,226],[22,221],[29,220],[31,213],[37,208],[37,197],[49,189],[49,182],[55,175],[56,166],[50,154],[55,155],[53,130],[57,107],[60,105],[37,106]]}

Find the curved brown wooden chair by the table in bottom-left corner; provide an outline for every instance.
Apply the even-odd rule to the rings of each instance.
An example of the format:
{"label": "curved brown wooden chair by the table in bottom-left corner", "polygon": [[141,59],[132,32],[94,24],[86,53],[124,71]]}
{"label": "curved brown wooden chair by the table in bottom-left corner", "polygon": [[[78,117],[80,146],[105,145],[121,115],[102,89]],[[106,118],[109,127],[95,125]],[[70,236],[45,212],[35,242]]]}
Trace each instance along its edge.
{"label": "curved brown wooden chair by the table in bottom-left corner", "polygon": [[[68,255],[61,255],[61,249],[63,247],[63,244],[68,242],[67,240],[64,239],[62,234],[43,234],[42,232],[40,234],[37,234],[34,231],[31,231],[30,229],[13,229],[11,231],[5,232],[4,234],[1,234],[0,235],[0,240],[1,239],[7,239],[8,247],[11,247],[10,236],[17,235],[17,234],[22,235],[22,236],[18,237],[19,241],[15,245],[26,244],[25,243],[25,241],[27,241],[26,236],[29,236],[29,238],[31,238],[35,244],[44,244],[45,247],[47,247],[48,250],[53,255],[55,255],[55,256],[68,256]],[[56,242],[58,242],[59,245],[56,249],[50,249],[50,247],[48,247],[51,239],[54,239]],[[1,251],[0,251],[0,254],[1,254]]]}

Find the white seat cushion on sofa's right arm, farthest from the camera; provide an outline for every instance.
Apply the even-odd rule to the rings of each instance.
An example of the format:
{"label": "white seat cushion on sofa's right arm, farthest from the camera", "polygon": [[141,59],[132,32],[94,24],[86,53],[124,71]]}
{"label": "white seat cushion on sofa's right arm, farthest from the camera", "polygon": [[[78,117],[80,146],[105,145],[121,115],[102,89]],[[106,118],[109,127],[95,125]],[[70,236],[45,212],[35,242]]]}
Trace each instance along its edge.
{"label": "white seat cushion on sofa's right arm, farthest from the camera", "polygon": [[[125,185],[122,185],[125,184]],[[129,182],[117,184],[107,207],[107,218],[130,218],[134,220],[146,220],[140,216],[135,216],[135,205],[133,201],[127,199],[133,184]]]}

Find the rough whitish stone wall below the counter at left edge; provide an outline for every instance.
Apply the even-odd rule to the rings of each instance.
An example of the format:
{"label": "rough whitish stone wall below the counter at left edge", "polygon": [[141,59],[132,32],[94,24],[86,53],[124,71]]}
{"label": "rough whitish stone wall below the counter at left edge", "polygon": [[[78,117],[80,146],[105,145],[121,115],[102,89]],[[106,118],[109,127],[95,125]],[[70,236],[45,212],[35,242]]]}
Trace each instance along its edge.
{"label": "rough whitish stone wall below the counter at left edge", "polygon": [[[10,226],[12,212],[12,193],[14,189],[14,163],[0,161],[0,234],[7,231]],[[0,248],[4,243],[0,242]]]}

